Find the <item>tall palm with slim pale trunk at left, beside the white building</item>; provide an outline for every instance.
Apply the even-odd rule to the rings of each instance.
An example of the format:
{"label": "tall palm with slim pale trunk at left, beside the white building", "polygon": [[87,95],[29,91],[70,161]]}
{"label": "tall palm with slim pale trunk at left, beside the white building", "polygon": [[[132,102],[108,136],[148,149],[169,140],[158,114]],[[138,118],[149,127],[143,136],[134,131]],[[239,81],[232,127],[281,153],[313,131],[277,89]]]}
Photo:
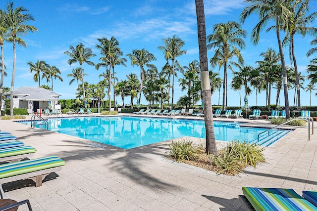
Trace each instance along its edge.
{"label": "tall palm with slim pale trunk at left, beside the white building", "polygon": [[17,36],[24,36],[28,32],[35,32],[38,29],[35,26],[26,25],[28,21],[34,21],[31,14],[27,13],[28,10],[23,6],[14,8],[13,2],[9,2],[6,5],[6,10],[1,11],[1,16],[3,15],[5,25],[8,28],[8,37],[5,38],[7,42],[13,43],[13,68],[12,68],[12,81],[11,81],[11,93],[10,93],[10,115],[13,118],[13,90],[14,90],[14,80],[15,80],[15,64],[16,64],[16,42],[19,45],[26,47],[26,43]]}

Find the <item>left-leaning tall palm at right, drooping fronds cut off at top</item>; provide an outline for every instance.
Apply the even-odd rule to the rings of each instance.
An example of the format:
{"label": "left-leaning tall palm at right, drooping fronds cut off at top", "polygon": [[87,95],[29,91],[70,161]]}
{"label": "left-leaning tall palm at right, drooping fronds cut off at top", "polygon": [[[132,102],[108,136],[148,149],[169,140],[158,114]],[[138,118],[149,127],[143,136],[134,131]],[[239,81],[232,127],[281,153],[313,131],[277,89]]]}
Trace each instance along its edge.
{"label": "left-leaning tall palm at right, drooping fronds cut off at top", "polygon": [[[280,38],[280,29],[285,26],[288,17],[290,17],[291,12],[287,9],[286,4],[288,0],[245,0],[244,2],[250,3],[249,6],[243,9],[240,14],[240,20],[242,23],[245,19],[252,13],[259,14],[260,21],[252,30],[251,40],[253,44],[257,44],[260,40],[260,32],[265,27],[268,21],[275,21],[276,37],[278,42],[279,54],[282,63],[282,74],[283,74],[283,86],[284,86],[284,101],[285,101],[285,111],[286,118],[290,118],[289,101],[288,101],[288,91],[287,91],[287,73],[286,64],[283,52],[282,41]],[[272,29],[268,28],[267,31]]]}

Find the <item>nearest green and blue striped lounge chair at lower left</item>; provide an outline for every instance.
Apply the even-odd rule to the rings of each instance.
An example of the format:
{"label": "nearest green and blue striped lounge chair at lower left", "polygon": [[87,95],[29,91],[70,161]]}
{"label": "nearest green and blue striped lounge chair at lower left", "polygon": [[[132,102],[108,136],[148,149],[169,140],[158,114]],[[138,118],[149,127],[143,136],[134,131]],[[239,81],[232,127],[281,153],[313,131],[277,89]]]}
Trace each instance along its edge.
{"label": "nearest green and blue striped lounge chair at lower left", "polygon": [[32,179],[35,187],[39,187],[45,176],[60,170],[64,165],[65,161],[56,156],[2,164],[0,165],[0,184],[20,179]]}

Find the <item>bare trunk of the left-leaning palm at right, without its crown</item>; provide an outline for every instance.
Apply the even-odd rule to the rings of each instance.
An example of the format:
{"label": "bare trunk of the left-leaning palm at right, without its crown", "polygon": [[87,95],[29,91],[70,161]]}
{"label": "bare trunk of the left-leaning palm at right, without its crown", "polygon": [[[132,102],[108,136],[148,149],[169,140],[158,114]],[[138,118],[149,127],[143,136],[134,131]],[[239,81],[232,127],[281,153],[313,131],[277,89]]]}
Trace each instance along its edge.
{"label": "bare trunk of the left-leaning palm at right, without its crown", "polygon": [[282,63],[284,98],[285,98],[285,112],[286,112],[286,118],[289,119],[290,112],[289,112],[289,101],[288,101],[288,90],[287,90],[287,74],[286,74],[286,65],[285,65],[283,46],[282,46],[282,42],[281,42],[281,38],[280,38],[280,34],[279,34],[279,18],[276,19],[276,36],[277,36],[279,54],[280,54],[281,63]]}

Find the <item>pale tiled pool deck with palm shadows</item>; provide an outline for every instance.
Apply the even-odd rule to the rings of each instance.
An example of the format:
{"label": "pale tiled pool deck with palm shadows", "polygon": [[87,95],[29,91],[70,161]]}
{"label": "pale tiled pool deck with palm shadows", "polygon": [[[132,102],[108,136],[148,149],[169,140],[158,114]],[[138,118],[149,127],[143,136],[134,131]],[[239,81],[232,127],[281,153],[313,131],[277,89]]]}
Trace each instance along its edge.
{"label": "pale tiled pool deck with palm shadows", "polygon": [[[237,121],[252,126],[269,124],[265,120]],[[303,190],[317,190],[317,135],[308,141],[307,127],[294,128],[265,148],[266,164],[226,176],[163,158],[166,142],[125,150],[0,120],[1,131],[9,131],[37,149],[34,158],[55,155],[66,161],[41,187],[36,188],[32,180],[2,187],[11,199],[29,199],[34,211],[242,211],[238,195],[243,186],[292,188],[300,195]],[[27,210],[27,206],[19,210]]]}

